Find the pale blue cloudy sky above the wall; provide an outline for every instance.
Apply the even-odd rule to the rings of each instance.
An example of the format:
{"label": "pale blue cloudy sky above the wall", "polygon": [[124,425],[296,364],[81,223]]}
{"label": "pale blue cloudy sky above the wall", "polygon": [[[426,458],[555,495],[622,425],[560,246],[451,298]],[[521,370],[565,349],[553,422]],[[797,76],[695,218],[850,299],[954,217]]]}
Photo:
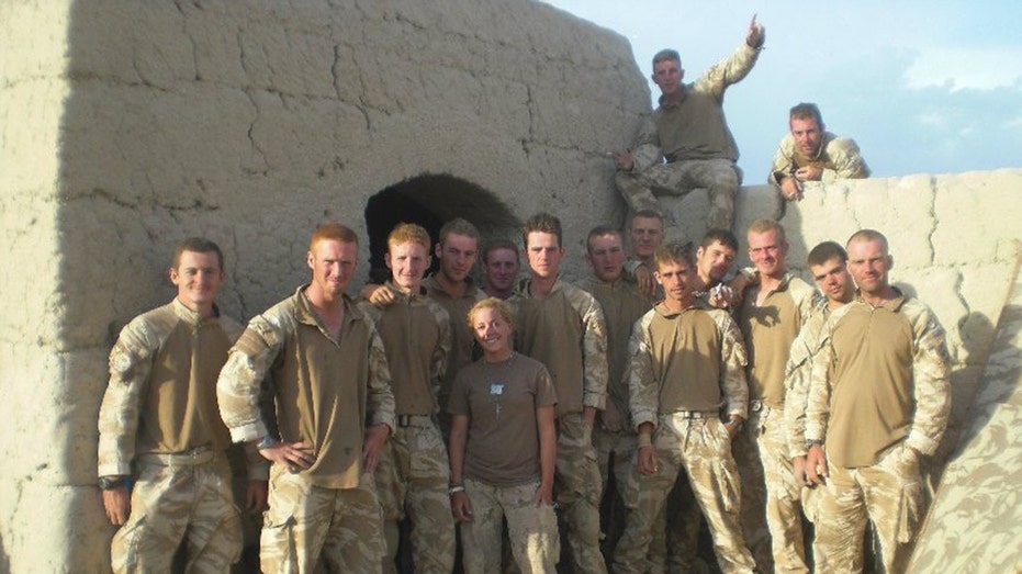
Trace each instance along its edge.
{"label": "pale blue cloudy sky above the wall", "polygon": [[765,182],[802,101],[858,143],[874,176],[1022,168],[1020,0],[544,1],[625,36],[647,79],[673,47],[694,81],[756,14],[766,49],[725,97],[746,184]]}

